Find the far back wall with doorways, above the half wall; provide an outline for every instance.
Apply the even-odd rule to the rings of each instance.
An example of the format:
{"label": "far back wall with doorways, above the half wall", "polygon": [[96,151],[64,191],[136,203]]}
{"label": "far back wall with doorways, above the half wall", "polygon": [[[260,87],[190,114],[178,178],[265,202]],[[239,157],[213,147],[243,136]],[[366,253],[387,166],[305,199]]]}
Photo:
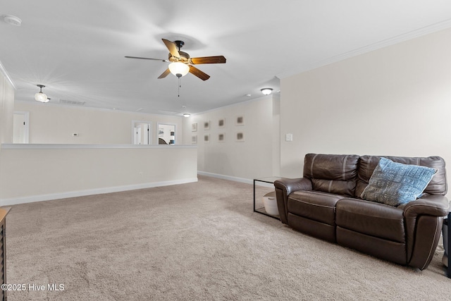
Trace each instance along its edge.
{"label": "far back wall with doorways, above the half wall", "polygon": [[[16,101],[15,111],[30,111],[30,143],[115,145],[132,143],[132,121],[152,125],[152,144],[158,144],[157,123],[174,123],[175,140],[182,137],[182,116],[164,116]],[[78,137],[73,137],[77,133]]]}

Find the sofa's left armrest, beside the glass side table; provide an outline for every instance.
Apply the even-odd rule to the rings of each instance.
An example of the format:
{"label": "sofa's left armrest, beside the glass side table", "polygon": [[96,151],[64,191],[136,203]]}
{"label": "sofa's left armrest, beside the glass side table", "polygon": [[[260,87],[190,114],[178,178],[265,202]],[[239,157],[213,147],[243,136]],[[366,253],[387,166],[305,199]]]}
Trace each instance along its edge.
{"label": "sofa's left armrest, beside the glass side table", "polygon": [[311,180],[307,178],[283,178],[274,182],[276,188],[277,208],[279,210],[280,221],[288,223],[288,196],[297,190],[312,190]]}

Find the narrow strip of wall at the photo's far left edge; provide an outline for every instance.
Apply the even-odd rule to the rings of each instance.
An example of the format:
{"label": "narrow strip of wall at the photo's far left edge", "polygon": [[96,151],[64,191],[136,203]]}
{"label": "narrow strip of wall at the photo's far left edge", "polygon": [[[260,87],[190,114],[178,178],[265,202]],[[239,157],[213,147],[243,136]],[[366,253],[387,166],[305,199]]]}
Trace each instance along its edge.
{"label": "narrow strip of wall at the photo's far left edge", "polygon": [[0,73],[0,144],[13,142],[14,88]]}

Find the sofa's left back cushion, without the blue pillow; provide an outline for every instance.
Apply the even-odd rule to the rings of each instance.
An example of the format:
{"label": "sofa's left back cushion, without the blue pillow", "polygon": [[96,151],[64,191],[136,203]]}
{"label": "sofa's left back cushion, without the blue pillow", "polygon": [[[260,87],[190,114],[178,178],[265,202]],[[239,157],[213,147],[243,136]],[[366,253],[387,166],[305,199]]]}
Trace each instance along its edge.
{"label": "sofa's left back cushion, without the blue pillow", "polygon": [[355,154],[306,154],[304,178],[313,190],[354,196],[358,162]]}

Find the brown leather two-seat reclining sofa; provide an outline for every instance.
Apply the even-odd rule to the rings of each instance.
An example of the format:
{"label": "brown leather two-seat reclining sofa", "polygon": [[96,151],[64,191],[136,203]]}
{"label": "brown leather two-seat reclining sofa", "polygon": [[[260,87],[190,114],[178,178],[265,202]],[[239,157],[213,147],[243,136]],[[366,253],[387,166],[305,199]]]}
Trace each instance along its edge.
{"label": "brown leather two-seat reclining sofa", "polygon": [[423,196],[392,207],[360,198],[381,156],[307,154],[303,178],[274,183],[280,221],[374,257],[426,269],[449,211],[445,161],[440,156],[384,157],[438,171]]}

